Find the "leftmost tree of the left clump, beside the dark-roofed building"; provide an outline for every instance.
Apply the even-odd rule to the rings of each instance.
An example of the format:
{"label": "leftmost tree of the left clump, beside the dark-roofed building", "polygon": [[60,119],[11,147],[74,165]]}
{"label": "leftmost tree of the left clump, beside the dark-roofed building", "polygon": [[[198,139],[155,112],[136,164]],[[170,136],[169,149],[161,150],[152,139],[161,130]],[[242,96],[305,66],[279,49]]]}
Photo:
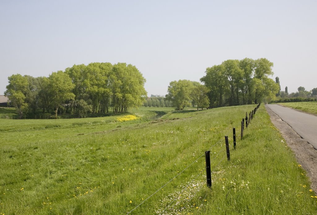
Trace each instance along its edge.
{"label": "leftmost tree of the left clump, beside the dark-roofed building", "polygon": [[25,95],[29,86],[28,78],[16,74],[11,75],[8,79],[9,85],[7,85],[4,95],[8,97],[11,105],[16,108],[17,114],[19,114],[21,119],[23,113],[28,110],[28,103],[25,102]]}

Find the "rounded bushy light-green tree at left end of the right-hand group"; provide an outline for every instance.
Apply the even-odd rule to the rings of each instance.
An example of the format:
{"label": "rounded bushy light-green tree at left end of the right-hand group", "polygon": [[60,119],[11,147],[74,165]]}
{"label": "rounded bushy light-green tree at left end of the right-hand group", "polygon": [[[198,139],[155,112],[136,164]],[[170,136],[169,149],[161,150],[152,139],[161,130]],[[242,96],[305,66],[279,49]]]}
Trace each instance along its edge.
{"label": "rounded bushy light-green tree at left end of the right-hand group", "polygon": [[183,110],[191,105],[191,91],[193,82],[189,80],[171,81],[167,88],[166,99],[172,102],[175,110]]}

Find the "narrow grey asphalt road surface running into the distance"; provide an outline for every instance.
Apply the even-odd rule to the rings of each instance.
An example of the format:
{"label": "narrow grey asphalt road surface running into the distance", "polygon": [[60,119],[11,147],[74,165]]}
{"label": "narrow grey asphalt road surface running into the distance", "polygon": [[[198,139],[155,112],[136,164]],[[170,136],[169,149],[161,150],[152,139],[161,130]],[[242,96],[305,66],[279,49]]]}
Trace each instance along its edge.
{"label": "narrow grey asphalt road surface running into the distance", "polygon": [[317,149],[317,116],[305,114],[280,105],[266,105],[303,139]]}

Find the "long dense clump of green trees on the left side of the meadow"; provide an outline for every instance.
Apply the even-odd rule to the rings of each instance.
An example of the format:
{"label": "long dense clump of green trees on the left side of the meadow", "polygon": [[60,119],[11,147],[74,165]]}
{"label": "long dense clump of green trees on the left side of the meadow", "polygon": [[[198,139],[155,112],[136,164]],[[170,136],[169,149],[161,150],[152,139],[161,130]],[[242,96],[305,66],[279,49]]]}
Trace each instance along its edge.
{"label": "long dense clump of green trees on the left side of the meadow", "polygon": [[114,114],[139,107],[147,93],[146,79],[126,63],[94,62],[53,72],[49,77],[11,75],[4,95],[23,114],[68,113],[86,117],[88,113]]}

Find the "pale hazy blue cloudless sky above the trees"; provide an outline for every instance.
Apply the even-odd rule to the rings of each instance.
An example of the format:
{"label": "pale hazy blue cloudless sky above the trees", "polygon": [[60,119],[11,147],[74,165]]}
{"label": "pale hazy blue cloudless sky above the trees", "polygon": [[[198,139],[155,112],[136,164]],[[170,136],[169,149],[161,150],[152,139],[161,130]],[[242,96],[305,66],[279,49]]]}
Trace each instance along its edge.
{"label": "pale hazy blue cloudless sky above the trees", "polygon": [[317,1],[0,1],[0,94],[13,74],[126,62],[165,95],[245,57],[273,62],[282,90],[317,88]]}

